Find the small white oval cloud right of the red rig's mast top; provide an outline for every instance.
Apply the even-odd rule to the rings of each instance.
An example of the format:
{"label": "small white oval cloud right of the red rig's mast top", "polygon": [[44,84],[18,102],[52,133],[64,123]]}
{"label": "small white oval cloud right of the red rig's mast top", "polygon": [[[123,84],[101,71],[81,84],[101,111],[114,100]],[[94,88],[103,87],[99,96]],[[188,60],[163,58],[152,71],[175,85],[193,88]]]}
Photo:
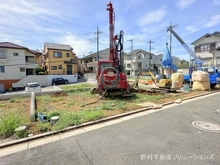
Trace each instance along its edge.
{"label": "small white oval cloud right of the red rig's mast top", "polygon": [[148,24],[160,22],[167,14],[165,8],[166,7],[161,7],[158,10],[154,10],[149,13],[146,13],[138,20],[138,24],[140,26],[145,26]]}

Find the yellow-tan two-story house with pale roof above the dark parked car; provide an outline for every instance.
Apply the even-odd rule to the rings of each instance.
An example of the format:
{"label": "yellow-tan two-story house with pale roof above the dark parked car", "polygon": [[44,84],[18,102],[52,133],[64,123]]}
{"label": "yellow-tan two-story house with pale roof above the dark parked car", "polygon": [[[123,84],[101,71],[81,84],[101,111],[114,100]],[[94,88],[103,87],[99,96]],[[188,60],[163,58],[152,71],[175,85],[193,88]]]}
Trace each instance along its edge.
{"label": "yellow-tan two-story house with pale roof above the dark parked car", "polygon": [[76,55],[70,45],[58,43],[44,43],[42,67],[48,75],[76,74]]}

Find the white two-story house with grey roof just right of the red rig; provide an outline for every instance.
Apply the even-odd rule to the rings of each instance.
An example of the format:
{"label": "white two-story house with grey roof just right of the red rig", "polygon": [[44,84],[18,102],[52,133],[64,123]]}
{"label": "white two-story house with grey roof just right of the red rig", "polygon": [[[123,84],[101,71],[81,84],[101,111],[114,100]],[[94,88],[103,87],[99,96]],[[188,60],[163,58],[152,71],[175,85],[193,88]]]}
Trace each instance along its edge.
{"label": "white two-story house with grey roof just right of the red rig", "polygon": [[140,70],[155,71],[161,65],[162,56],[150,54],[142,49],[129,52],[124,57],[125,73],[136,76]]}

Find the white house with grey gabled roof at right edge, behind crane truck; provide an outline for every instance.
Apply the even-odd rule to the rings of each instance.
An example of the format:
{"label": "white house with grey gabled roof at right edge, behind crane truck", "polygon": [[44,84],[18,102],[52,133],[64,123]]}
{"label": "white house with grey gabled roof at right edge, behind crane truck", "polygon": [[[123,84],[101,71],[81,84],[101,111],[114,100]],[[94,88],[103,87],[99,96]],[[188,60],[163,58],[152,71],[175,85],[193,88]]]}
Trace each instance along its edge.
{"label": "white house with grey gabled roof at right edge, behind crane truck", "polygon": [[192,45],[195,46],[195,54],[203,61],[203,66],[220,66],[220,52],[217,51],[220,46],[220,32],[207,33],[192,42]]}

